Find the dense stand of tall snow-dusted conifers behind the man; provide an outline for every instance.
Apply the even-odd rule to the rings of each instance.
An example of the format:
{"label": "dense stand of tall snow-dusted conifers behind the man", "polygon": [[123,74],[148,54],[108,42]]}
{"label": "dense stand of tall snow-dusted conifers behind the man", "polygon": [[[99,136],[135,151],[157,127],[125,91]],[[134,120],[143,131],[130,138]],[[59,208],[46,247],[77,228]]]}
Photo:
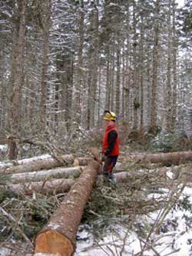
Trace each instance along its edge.
{"label": "dense stand of tall snow-dusted conifers behind the man", "polygon": [[189,135],[190,0],[0,3],[0,131],[66,145],[115,111],[124,135]]}

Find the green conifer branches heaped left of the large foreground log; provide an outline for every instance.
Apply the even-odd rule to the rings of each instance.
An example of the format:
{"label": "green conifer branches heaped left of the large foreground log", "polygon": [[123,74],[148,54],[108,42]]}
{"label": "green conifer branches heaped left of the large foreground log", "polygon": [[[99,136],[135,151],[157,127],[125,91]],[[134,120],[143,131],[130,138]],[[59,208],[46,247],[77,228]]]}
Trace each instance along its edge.
{"label": "green conifer branches heaped left of the large foreground log", "polygon": [[10,191],[4,193],[1,206],[15,221],[10,222],[6,216],[0,214],[0,229],[2,230],[0,241],[5,241],[8,237],[16,240],[22,239],[15,225],[18,225],[28,238],[34,238],[57,208],[53,197],[39,196],[37,199],[32,199],[12,194]]}

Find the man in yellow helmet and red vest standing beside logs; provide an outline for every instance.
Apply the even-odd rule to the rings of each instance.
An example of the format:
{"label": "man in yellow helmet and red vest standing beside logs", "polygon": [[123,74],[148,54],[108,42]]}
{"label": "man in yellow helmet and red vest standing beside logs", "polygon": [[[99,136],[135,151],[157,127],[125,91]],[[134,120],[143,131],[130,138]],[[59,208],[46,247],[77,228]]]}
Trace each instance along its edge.
{"label": "man in yellow helmet and red vest standing beside logs", "polygon": [[111,111],[104,111],[104,139],[102,147],[102,160],[104,161],[103,175],[109,181],[115,181],[112,173],[119,155],[119,135],[115,125],[116,115]]}

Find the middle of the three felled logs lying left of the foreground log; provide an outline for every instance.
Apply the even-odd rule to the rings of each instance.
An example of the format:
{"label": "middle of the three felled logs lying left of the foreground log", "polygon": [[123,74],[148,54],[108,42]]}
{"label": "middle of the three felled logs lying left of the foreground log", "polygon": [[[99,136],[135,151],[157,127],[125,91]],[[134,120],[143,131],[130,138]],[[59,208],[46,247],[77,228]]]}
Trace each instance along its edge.
{"label": "middle of the three felled logs lying left of the foreground log", "polygon": [[69,178],[78,177],[83,167],[75,166],[68,168],[55,168],[50,170],[23,172],[15,175],[7,175],[8,183],[25,183],[28,181],[42,181],[48,178]]}

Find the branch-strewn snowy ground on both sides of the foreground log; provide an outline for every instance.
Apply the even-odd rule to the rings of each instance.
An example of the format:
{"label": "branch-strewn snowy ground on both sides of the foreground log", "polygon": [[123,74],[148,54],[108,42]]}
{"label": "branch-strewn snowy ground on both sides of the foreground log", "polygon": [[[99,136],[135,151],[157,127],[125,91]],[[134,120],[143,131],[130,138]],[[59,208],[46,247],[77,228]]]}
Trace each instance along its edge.
{"label": "branch-strewn snowy ground on both sides of the foreground log", "polygon": [[[130,151],[124,148],[124,155]],[[191,168],[130,163],[126,182],[95,184],[74,255],[192,255]],[[0,255],[31,256],[35,235],[64,197],[1,191]]]}

